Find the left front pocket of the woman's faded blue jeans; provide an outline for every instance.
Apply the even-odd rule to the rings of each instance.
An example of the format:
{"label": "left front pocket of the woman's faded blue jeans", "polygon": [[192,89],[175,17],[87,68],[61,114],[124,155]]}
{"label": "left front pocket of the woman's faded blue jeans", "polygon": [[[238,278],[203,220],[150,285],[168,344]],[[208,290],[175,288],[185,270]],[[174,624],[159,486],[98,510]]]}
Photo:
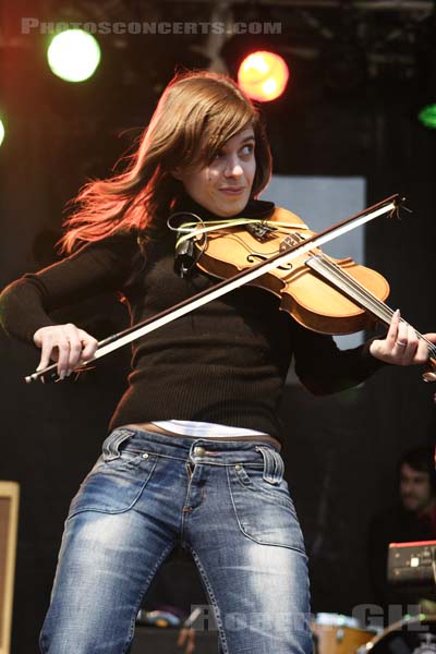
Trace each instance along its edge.
{"label": "left front pocket of the woman's faded blue jeans", "polygon": [[68,519],[82,511],[122,513],[141,497],[158,457],[152,452],[121,452],[121,443],[129,438],[125,432],[116,429],[106,439],[104,453],[73,498]]}

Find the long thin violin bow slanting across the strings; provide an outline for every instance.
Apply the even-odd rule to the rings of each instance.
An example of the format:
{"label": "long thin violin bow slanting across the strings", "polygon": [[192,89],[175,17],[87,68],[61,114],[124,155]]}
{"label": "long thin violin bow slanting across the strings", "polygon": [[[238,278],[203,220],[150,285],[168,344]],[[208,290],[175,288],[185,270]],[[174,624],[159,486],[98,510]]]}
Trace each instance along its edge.
{"label": "long thin violin bow slanting across the strings", "polygon": [[[184,300],[174,306],[170,306],[169,308],[159,312],[150,318],[146,318],[141,323],[136,323],[135,325],[132,325],[122,331],[105,338],[98,342],[98,348],[94,356],[86,362],[80,363],[74,370],[76,372],[82,372],[86,370],[90,363],[101,359],[102,356],[106,356],[106,354],[109,354],[110,352],[113,352],[114,350],[118,350],[119,348],[122,348],[123,346],[126,346],[128,343],[131,343],[138,338],[155,331],[156,329],[159,329],[159,327],[164,327],[164,325],[168,325],[172,320],[191,313],[195,308],[198,308],[199,306],[203,306],[208,302],[216,300],[217,298],[226,295],[230,291],[239,289],[245,283],[257,279],[257,277],[269,272],[269,270],[284,266],[292,259],[305,254],[306,252],[310,252],[314,247],[319,247],[320,245],[324,245],[325,243],[328,243],[329,241],[332,241],[338,237],[341,237],[342,234],[355,229],[356,227],[378,218],[379,216],[385,214],[392,215],[397,213],[404,201],[405,198],[400,197],[398,193],[390,195],[386,199],[383,199],[382,202],[364,209],[363,211],[327,227],[323,231],[306,238],[302,242],[281,250],[267,261],[259,262],[258,264],[250,267],[247,270],[241,270],[230,279],[223,279],[214,287],[205,289],[196,295],[193,295],[192,298],[189,298],[187,300]],[[50,364],[46,368],[24,377],[24,379],[27,384],[36,382],[37,379],[43,383],[60,382],[57,367],[57,363]]]}

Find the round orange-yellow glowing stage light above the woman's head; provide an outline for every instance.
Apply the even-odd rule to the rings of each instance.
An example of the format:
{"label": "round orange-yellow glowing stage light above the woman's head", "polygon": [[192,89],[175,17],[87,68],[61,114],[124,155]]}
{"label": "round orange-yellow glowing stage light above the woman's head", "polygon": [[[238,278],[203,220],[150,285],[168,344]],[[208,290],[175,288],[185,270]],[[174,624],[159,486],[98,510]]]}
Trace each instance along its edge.
{"label": "round orange-yellow glowing stage light above the woman's head", "polygon": [[245,57],[238,72],[238,84],[249,97],[268,102],[280,97],[289,80],[288,65],[280,55],[259,50]]}

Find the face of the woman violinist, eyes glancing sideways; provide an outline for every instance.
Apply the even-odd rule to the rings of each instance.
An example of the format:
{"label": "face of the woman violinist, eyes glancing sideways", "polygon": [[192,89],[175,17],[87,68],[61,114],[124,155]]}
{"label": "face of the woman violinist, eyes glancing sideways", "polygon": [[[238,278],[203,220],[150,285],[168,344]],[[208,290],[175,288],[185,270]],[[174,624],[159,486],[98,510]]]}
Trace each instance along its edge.
{"label": "face of the woman violinist, eyes glancing sideways", "polygon": [[254,131],[246,128],[230,138],[215,159],[172,171],[186,193],[217,216],[234,216],[250,199],[256,160]]}

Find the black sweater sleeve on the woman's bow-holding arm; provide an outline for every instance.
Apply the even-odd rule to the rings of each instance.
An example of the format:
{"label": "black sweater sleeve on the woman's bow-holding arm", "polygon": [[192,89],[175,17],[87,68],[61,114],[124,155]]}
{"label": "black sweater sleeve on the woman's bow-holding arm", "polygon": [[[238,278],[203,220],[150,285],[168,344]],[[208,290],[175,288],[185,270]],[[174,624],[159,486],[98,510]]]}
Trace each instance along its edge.
{"label": "black sweater sleeve on the woman's bow-holding arm", "polygon": [[24,275],[0,294],[1,326],[9,336],[33,343],[37,329],[56,324],[50,312],[120,290],[137,252],[133,234],[116,234],[88,243],[39,272]]}

